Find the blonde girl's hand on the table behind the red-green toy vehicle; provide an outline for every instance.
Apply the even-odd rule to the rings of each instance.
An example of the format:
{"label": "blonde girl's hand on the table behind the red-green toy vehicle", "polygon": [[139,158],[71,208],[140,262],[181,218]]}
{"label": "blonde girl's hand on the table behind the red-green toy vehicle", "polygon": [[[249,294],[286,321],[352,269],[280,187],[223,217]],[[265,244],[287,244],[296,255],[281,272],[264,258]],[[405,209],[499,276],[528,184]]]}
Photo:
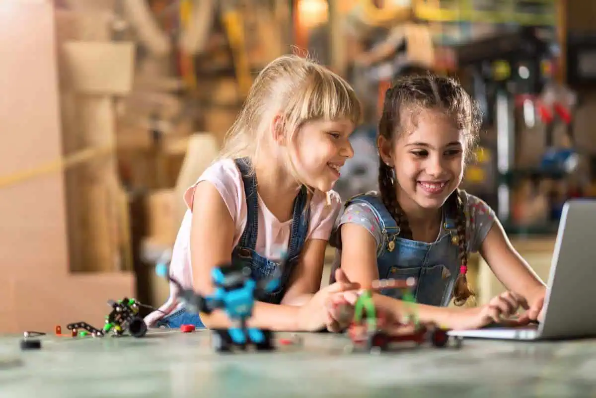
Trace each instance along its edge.
{"label": "blonde girl's hand on the table behind the red-green toy vehicle", "polygon": [[[298,327],[301,331],[314,332],[322,328],[329,331],[343,329],[345,319],[340,307],[352,306],[356,301],[356,290],[359,285],[347,280],[341,269],[336,270],[336,282],[328,285],[312,296],[308,303],[300,307]],[[333,303],[342,304],[334,306]],[[336,308],[334,308],[336,307]]]}

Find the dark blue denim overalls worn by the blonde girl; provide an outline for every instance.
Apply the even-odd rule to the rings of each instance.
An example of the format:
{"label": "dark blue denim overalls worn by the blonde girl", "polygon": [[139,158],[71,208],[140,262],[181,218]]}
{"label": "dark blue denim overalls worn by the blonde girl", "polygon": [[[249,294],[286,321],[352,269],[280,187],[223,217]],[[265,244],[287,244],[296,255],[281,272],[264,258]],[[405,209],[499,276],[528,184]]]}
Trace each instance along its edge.
{"label": "dark blue denim overalls worn by the blonde girl", "polygon": [[[272,275],[278,268],[278,263],[259,256],[254,251],[257,242],[257,231],[259,230],[259,201],[257,196],[257,180],[254,173],[249,175],[249,163],[244,159],[237,159],[236,165],[242,174],[244,183],[244,194],[246,195],[247,222],[244,232],[238,241],[238,245],[232,251],[232,261],[242,262],[252,269],[252,278],[257,281]],[[308,193],[306,187],[300,189],[294,201],[294,215],[291,223],[290,242],[288,242],[288,261],[282,270],[280,288],[265,297],[260,297],[259,301],[266,303],[279,304],[288,288],[288,282],[292,270],[296,267],[299,260],[302,247],[308,234],[308,225],[310,220],[310,206],[306,206]],[[184,308],[175,310],[170,315],[164,316],[156,322],[156,326],[165,326],[170,328],[179,328],[181,325],[195,325],[195,327],[204,327],[198,314],[188,313]]]}

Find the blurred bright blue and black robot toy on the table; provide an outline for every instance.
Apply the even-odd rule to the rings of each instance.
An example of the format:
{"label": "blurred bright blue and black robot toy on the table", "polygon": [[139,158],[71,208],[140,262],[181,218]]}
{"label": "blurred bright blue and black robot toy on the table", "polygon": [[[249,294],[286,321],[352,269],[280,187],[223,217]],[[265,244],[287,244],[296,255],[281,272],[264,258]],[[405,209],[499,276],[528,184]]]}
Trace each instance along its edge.
{"label": "blurred bright blue and black robot toy on the table", "polygon": [[280,274],[271,278],[255,281],[251,278],[251,269],[238,263],[229,263],[213,268],[211,276],[215,292],[211,296],[201,296],[193,289],[185,289],[169,275],[165,263],[157,265],[157,274],[178,287],[178,299],[184,306],[195,313],[212,313],[216,309],[224,310],[235,325],[229,329],[213,329],[212,346],[217,352],[229,352],[232,347],[246,349],[253,344],[257,350],[273,350],[272,332],[247,327],[247,319],[252,316],[254,300],[264,294],[272,293],[279,287]]}

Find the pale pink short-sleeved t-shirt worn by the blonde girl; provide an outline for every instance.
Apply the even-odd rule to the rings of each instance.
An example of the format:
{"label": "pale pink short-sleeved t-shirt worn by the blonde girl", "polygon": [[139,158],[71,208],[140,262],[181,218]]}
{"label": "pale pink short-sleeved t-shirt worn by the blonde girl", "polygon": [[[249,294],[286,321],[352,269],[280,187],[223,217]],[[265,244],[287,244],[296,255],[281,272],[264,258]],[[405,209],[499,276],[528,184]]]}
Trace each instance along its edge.
{"label": "pale pink short-sleeved t-shirt worn by the blonde girl", "polygon": [[[219,194],[228,207],[229,214],[234,220],[234,246],[240,241],[240,237],[246,227],[247,206],[246,195],[244,195],[244,183],[242,175],[234,160],[219,160],[209,166],[198,180],[190,186],[184,193],[184,201],[188,210],[182,219],[178,236],[172,250],[172,261],[170,262],[170,274],[178,279],[184,287],[193,285],[193,273],[191,268],[190,256],[190,230],[193,217],[193,197],[197,184],[201,181],[209,181],[218,189]],[[281,256],[287,251],[290,241],[291,219],[280,222],[272,214],[260,195],[259,202],[259,229],[257,232],[257,242],[254,250],[263,257],[273,261],[279,261]],[[328,240],[333,228],[334,222],[342,207],[339,195],[335,191],[329,192],[331,204],[327,204],[327,197],[324,192],[315,191],[311,200],[311,219],[309,220],[308,235],[306,239]],[[173,299],[175,290],[170,285],[170,297],[167,302],[160,307],[160,311],[170,313],[178,303]],[[145,318],[148,325],[153,324],[157,319],[164,315],[160,311],[154,311]]]}

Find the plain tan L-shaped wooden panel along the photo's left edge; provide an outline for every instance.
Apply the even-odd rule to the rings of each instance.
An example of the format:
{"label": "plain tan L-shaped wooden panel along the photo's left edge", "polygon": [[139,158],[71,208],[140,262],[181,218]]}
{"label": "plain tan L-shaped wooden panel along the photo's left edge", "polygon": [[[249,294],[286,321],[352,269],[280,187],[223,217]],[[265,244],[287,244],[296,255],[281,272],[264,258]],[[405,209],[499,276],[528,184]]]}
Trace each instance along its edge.
{"label": "plain tan L-shaped wooden panel along the photo's left edge", "polygon": [[[63,155],[51,2],[0,2],[0,179]],[[134,293],[128,273],[72,275],[61,170],[0,189],[0,332],[102,325],[108,298]]]}

